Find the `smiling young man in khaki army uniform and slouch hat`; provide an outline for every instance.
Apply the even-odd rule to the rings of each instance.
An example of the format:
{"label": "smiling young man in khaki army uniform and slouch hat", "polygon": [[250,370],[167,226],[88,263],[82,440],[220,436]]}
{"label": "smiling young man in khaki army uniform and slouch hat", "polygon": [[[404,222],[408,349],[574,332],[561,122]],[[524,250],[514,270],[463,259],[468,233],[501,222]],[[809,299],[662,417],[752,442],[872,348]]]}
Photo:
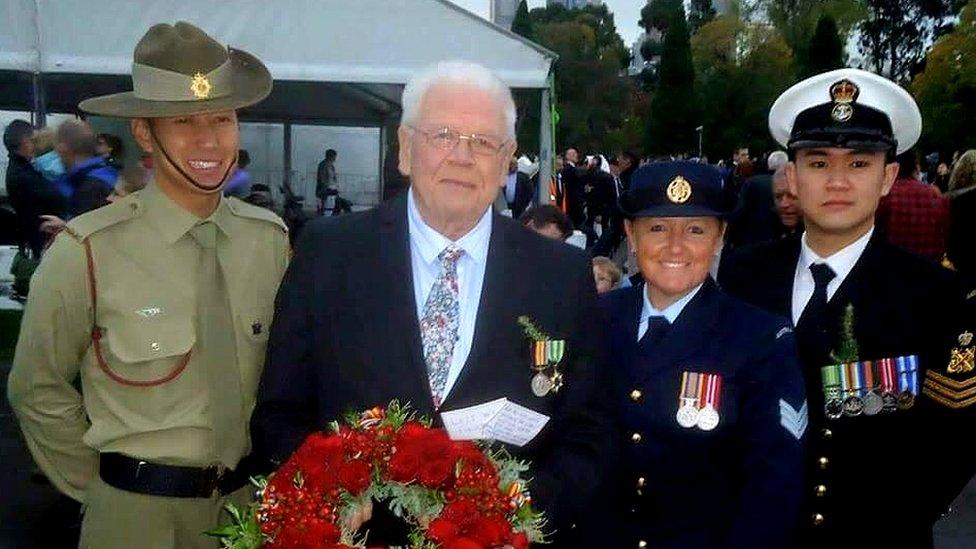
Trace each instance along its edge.
{"label": "smiling young man in khaki army uniform and slouch hat", "polygon": [[80,106],[130,118],[154,180],[57,237],[9,397],[41,469],[84,504],[82,547],[213,547],[222,505],[251,491],[248,418],[288,257],[280,219],[221,193],[236,109],[271,76],[180,22],[143,36],[132,80]]}

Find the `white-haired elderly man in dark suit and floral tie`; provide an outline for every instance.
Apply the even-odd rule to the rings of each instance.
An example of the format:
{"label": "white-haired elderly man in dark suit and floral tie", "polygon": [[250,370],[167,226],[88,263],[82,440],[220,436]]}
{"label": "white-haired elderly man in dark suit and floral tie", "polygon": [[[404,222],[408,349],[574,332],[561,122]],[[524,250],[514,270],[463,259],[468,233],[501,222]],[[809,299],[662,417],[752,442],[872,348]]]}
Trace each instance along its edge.
{"label": "white-haired elderly man in dark suit and floral tie", "polygon": [[[437,421],[506,397],[550,418],[510,450],[531,461],[551,527],[571,525],[611,442],[599,312],[585,254],[491,209],[514,132],[511,92],[484,67],[441,63],[407,84],[398,137],[409,189],[313,222],[285,275],[252,420],[264,457],[287,458],[349,409],[399,399]],[[565,340],[558,376],[533,369],[520,316]],[[383,529],[367,527],[379,545]]]}

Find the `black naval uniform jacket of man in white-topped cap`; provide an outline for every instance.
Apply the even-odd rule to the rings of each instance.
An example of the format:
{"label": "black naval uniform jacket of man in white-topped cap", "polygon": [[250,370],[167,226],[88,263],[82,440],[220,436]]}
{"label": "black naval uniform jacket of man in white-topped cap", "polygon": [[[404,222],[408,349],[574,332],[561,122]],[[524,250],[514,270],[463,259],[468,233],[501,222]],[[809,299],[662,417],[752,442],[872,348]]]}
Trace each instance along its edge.
{"label": "black naval uniform jacket of man in white-topped cap", "polygon": [[[743,249],[723,269],[723,288],[789,317],[799,254],[799,238]],[[945,438],[942,419],[935,419],[945,410],[920,395],[909,410],[828,420],[820,368],[836,362],[830,352],[839,341],[844,308],[851,304],[859,357],[919,355],[921,385],[927,369],[946,364],[961,302],[962,288],[951,272],[887,244],[876,232],[828,302],[826,321],[796,327],[813,433],[808,530],[797,546],[931,546],[933,523],[962,488],[959,475],[947,474],[953,460],[934,450],[961,440],[958,433]],[[821,457],[827,458],[825,466]],[[972,470],[969,463],[966,467]],[[825,496],[815,495],[817,486],[826,488]],[[814,513],[823,515],[822,526],[811,525]],[[870,524],[888,526],[866,532]]]}

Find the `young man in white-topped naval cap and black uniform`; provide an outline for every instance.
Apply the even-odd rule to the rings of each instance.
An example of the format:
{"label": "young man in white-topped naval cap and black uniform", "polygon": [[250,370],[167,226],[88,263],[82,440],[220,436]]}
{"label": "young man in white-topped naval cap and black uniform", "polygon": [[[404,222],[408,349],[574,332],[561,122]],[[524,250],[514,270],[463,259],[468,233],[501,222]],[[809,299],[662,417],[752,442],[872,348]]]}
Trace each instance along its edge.
{"label": "young man in white-topped naval cap and black uniform", "polygon": [[741,251],[723,283],[797,332],[812,430],[797,547],[931,547],[972,471],[945,455],[970,413],[968,376],[944,375],[965,291],[874,227],[921,123],[905,90],[857,69],[796,84],[769,114],[805,231]]}

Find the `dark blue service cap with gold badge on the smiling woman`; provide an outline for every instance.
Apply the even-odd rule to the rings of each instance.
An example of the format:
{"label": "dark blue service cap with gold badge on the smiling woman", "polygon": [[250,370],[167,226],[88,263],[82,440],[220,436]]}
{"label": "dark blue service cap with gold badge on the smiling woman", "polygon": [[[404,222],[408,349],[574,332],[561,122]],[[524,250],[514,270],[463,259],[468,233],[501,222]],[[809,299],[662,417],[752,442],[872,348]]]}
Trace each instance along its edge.
{"label": "dark blue service cap with gold badge on the smiling woman", "polygon": [[634,172],[620,210],[635,217],[721,217],[735,209],[722,172],[708,164],[674,161],[645,164]]}

